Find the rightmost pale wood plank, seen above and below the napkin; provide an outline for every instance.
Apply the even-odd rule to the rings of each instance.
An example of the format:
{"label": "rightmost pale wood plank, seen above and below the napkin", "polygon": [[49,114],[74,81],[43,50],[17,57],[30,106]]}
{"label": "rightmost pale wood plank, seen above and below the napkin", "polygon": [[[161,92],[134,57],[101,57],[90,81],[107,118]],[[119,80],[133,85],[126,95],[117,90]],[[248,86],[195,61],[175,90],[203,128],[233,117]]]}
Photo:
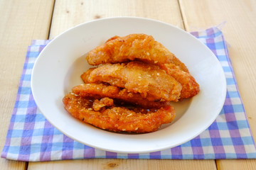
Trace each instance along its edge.
{"label": "rightmost pale wood plank, seen above and below the napkin", "polygon": [[[240,96],[245,106],[250,128],[256,140],[256,1],[184,1],[180,0],[183,20],[187,30],[217,26],[223,28],[229,54],[238,81]],[[256,160],[218,160],[218,169],[252,169]]]}

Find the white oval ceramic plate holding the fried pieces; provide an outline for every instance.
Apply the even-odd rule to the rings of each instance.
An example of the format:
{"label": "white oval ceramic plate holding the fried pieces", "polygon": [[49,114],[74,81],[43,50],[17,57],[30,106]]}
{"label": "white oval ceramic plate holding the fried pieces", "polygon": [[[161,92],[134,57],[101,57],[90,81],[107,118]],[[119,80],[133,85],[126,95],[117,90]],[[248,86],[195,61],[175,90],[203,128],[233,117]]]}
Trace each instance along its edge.
{"label": "white oval ceramic plate holding the fried pieces", "polygon": [[[197,96],[174,103],[177,116],[173,123],[142,135],[107,132],[87,125],[70,116],[62,103],[73,86],[82,84],[80,74],[90,67],[82,55],[114,35],[130,33],[153,35],[186,64],[201,87]],[[38,108],[55,128],[85,145],[123,153],[154,152],[193,139],[213,123],[226,94],[223,69],[208,47],[167,23],[130,17],[95,20],[60,34],[36,60],[31,86]]]}

